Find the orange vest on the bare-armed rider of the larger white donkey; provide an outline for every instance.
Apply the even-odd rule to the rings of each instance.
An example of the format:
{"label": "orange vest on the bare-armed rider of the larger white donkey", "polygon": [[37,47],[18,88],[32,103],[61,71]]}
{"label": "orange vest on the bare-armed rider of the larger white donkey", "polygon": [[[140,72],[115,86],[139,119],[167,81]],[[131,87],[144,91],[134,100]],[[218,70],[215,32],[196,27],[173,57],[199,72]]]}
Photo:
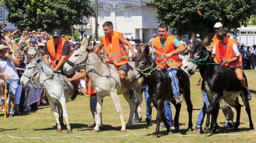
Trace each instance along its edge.
{"label": "orange vest on the bare-armed rider of the larger white donkey", "polygon": [[129,61],[129,57],[127,57],[127,52],[124,44],[119,44],[119,35],[123,35],[123,33],[113,32],[111,43],[108,37],[102,37],[103,45],[108,56],[107,62],[114,63],[115,65],[123,65]]}

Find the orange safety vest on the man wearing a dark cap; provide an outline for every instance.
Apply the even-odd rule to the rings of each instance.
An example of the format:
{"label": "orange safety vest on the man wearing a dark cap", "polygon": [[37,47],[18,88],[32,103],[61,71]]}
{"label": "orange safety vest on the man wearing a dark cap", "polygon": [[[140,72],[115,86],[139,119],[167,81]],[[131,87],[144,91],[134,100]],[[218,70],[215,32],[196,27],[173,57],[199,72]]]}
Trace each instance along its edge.
{"label": "orange safety vest on the man wearing a dark cap", "polygon": [[[53,43],[53,39],[50,39],[47,41],[47,49],[49,51],[50,54],[50,59],[51,59],[51,63],[50,65],[54,68],[56,66],[56,62],[59,61],[61,59],[61,53],[62,53],[62,48],[63,45],[65,43],[65,39],[60,38],[60,43],[58,45],[57,48],[57,52],[55,52],[55,48],[54,48],[54,43]],[[72,53],[70,53],[66,60],[68,60],[68,58],[72,55]]]}

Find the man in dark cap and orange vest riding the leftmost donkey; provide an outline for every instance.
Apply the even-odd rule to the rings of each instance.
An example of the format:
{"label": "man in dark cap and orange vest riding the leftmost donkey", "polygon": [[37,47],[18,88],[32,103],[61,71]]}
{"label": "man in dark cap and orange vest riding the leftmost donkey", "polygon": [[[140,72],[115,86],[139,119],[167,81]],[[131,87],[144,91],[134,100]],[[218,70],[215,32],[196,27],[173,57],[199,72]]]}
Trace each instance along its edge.
{"label": "man in dark cap and orange vest riding the leftmost donkey", "polygon": [[[71,55],[68,41],[61,37],[61,31],[59,29],[54,29],[52,31],[52,39],[48,40],[44,46],[44,62],[52,66],[53,72],[61,71],[63,65]],[[51,62],[49,62],[49,57]],[[75,88],[75,92],[70,98],[71,100],[74,100],[78,94],[78,84],[78,82],[75,83],[77,88]]]}

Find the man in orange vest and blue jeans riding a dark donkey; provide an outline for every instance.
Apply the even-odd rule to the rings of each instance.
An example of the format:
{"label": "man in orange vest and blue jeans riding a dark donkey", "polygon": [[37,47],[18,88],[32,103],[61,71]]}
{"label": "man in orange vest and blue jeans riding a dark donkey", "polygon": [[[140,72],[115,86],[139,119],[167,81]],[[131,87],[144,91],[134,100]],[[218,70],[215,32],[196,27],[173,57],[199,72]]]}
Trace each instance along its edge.
{"label": "man in orange vest and blue jeans riding a dark donkey", "polygon": [[157,54],[156,64],[159,65],[159,69],[169,72],[173,97],[175,98],[176,104],[181,104],[179,99],[179,80],[177,77],[177,70],[181,65],[181,60],[178,54],[186,49],[180,44],[178,39],[168,35],[169,30],[165,23],[161,23],[158,26],[158,32],[159,36],[156,37],[154,41],[154,47],[156,48]]}

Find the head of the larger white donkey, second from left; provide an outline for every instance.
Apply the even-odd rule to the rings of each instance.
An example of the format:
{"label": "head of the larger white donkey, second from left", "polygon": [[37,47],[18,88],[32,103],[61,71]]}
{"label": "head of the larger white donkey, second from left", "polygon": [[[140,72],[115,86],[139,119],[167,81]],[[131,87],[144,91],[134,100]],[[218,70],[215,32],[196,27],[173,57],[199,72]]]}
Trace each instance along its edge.
{"label": "head of the larger white donkey, second from left", "polygon": [[67,62],[63,66],[63,72],[66,74],[71,74],[75,72],[75,70],[82,68],[84,66],[84,63],[86,62],[85,59],[88,56],[90,52],[92,52],[91,49],[88,47],[90,46],[92,36],[87,39],[85,36],[82,40],[81,47],[74,52]]}

